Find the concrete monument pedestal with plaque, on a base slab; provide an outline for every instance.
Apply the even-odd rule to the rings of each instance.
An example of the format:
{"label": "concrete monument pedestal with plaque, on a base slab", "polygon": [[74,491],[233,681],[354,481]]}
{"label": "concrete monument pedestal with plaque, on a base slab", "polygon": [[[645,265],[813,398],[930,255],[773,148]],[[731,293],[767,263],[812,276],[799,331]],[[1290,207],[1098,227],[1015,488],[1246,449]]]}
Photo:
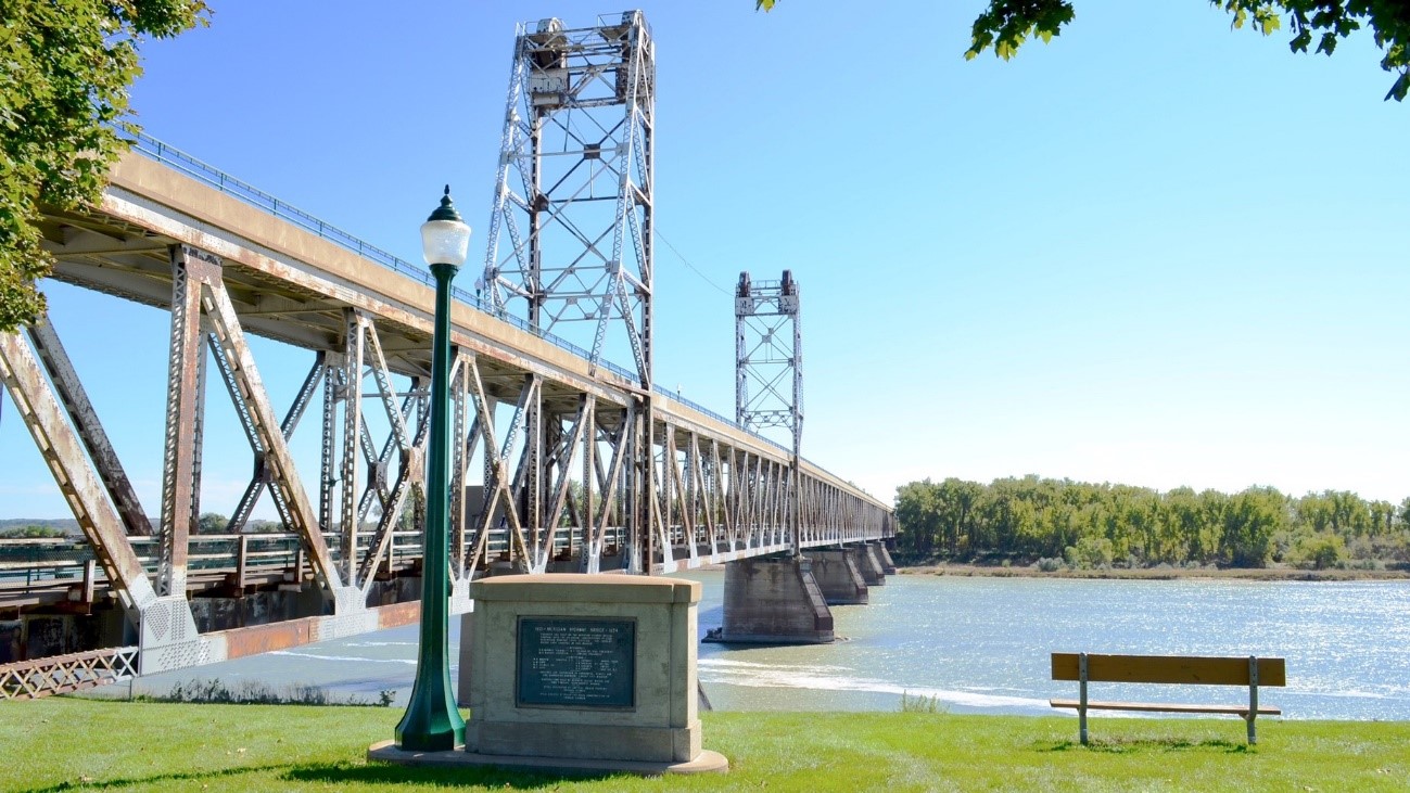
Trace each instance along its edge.
{"label": "concrete monument pedestal with plaque, on a base slab", "polygon": [[701,748],[699,582],[546,573],[470,590],[475,610],[460,634],[465,751],[378,745],[369,758],[575,773],[729,769]]}

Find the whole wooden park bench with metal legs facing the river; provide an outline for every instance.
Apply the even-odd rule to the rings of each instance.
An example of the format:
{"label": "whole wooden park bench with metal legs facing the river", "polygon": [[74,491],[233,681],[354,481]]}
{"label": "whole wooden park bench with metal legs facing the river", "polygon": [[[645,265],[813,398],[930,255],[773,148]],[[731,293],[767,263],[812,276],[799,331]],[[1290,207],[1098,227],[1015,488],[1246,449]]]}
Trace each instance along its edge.
{"label": "whole wooden park bench with metal legs facing the river", "polygon": [[[1258,704],[1259,686],[1286,686],[1287,673],[1282,658],[1210,658],[1180,655],[1089,655],[1086,652],[1055,652],[1053,680],[1076,680],[1079,697],[1048,700],[1052,707],[1077,710],[1081,742],[1087,742],[1089,710],[1145,710],[1159,713],[1228,713],[1248,723],[1248,742],[1256,744],[1253,720],[1259,716],[1282,716],[1283,711]],[[1087,699],[1087,683],[1194,683],[1206,686],[1248,686],[1248,704],[1182,704],[1093,701]]]}

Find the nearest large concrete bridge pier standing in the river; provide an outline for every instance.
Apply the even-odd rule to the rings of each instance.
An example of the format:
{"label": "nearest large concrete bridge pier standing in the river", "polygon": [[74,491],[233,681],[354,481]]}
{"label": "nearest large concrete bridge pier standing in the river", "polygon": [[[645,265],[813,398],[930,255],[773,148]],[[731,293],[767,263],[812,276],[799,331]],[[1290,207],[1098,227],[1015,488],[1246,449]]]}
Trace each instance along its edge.
{"label": "nearest large concrete bridge pier standing in the river", "polygon": [[725,565],[725,624],[719,641],[826,644],[832,611],[804,556],[760,556]]}

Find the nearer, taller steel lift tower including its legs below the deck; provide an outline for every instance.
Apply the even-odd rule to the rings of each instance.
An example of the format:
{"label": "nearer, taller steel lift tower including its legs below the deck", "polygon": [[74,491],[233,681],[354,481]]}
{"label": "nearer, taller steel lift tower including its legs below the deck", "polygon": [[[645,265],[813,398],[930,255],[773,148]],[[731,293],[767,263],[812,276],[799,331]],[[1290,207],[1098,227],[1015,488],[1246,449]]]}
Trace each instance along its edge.
{"label": "nearer, taller steel lift tower including its legs below the deck", "polygon": [[[584,558],[618,545],[630,572],[649,568],[661,511],[651,503],[661,476],[651,410],[654,114],[656,49],[642,11],[584,28],[558,18],[519,25],[482,280],[486,310],[522,313],[533,331],[584,348],[591,373],[634,387],[618,413],[591,396],[564,406],[532,377],[513,424],[523,430],[513,473],[520,523],[556,525],[560,506],[577,508],[567,493],[581,459],[584,510],[602,506],[594,523],[626,528],[620,542],[594,541]],[[505,462],[515,442],[506,439]],[[592,462],[598,447],[629,451],[620,477]],[[486,458],[486,493],[506,475]],[[622,513],[609,514],[618,501]],[[551,549],[529,551],[520,566],[541,572]]]}

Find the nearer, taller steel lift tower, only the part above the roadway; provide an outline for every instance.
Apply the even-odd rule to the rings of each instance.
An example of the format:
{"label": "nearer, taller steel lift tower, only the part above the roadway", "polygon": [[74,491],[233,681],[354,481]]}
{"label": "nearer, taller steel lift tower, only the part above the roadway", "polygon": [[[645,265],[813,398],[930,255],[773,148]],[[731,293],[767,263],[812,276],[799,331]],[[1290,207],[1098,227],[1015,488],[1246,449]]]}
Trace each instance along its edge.
{"label": "nearer, taller steel lift tower, only the part above the roadway", "polygon": [[[519,27],[484,286],[494,310],[570,341],[594,368],[615,342],[651,389],[656,51],[642,11]],[[623,346],[622,342],[626,342]]]}

